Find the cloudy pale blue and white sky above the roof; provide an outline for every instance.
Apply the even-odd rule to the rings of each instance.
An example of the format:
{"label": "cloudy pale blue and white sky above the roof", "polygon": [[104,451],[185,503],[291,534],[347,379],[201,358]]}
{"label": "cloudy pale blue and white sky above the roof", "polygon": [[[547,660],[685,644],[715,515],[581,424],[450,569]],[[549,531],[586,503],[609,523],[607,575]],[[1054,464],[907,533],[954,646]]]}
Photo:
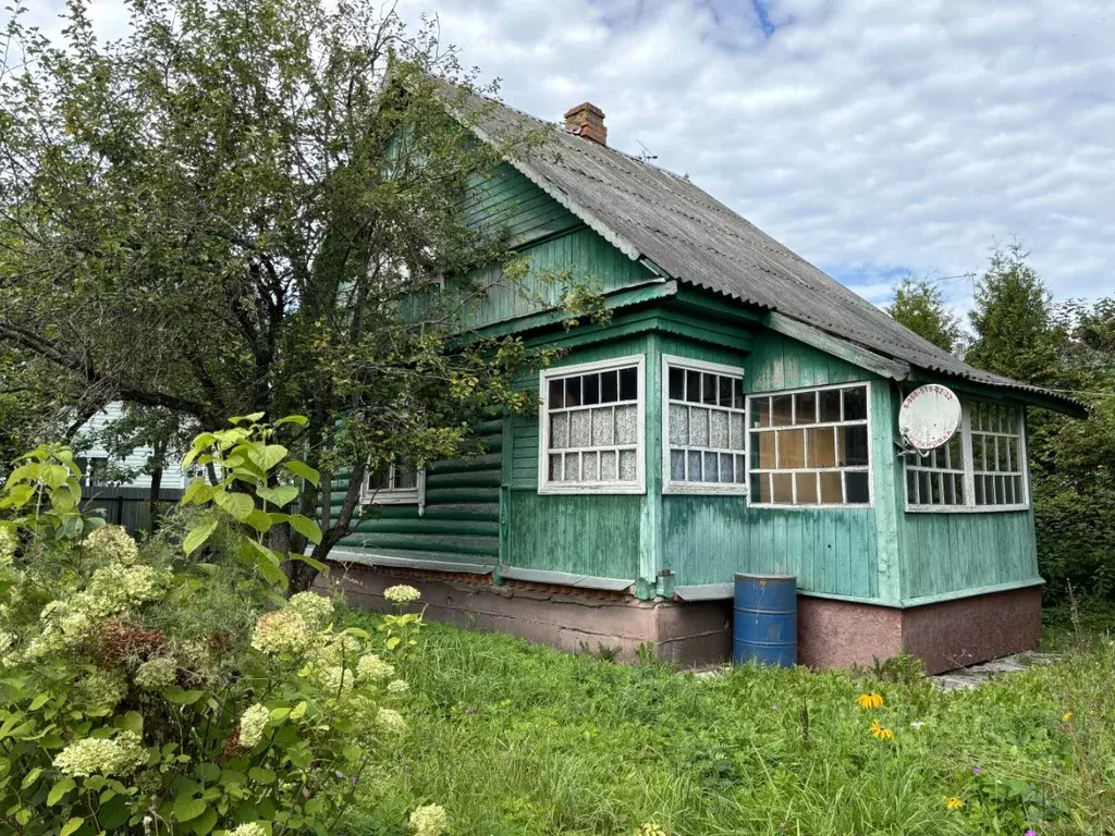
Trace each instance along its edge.
{"label": "cloudy pale blue and white sky above the roof", "polygon": [[[48,28],[61,0],[33,0]],[[689,176],[883,303],[966,308],[1017,237],[1058,298],[1115,292],[1111,0],[401,0],[508,104],[584,100],[609,143]],[[3,14],[3,12],[0,12]],[[120,33],[122,0],[96,18]]]}

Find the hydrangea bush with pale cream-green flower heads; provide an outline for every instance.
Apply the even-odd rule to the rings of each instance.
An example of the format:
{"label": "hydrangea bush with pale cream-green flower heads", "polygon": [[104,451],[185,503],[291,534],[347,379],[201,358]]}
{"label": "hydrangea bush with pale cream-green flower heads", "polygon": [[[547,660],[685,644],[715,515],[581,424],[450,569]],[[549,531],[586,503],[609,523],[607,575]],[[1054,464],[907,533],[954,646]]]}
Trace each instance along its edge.
{"label": "hydrangea bush with pale cream-green flower heads", "polygon": [[401,648],[380,658],[331,601],[220,550],[187,556],[196,509],[140,547],[77,513],[70,451],[27,465],[0,494],[0,832],[332,833],[407,732]]}

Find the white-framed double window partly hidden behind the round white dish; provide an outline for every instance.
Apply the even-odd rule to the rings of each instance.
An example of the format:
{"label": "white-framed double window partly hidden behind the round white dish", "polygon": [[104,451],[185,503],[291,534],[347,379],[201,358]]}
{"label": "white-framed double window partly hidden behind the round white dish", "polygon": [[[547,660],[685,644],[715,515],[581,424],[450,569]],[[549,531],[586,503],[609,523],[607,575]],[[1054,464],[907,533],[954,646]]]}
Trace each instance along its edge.
{"label": "white-framed double window partly hidden behind the round white dish", "polygon": [[904,459],[906,511],[1021,511],[1029,507],[1021,407],[961,399],[948,444]]}

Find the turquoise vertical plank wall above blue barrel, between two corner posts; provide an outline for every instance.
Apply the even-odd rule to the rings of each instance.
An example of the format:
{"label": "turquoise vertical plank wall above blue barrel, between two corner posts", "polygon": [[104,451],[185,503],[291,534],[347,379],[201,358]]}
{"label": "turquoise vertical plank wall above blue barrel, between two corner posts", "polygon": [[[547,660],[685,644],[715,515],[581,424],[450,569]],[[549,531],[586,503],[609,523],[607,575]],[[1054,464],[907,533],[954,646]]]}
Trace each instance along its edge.
{"label": "turquoise vertical plank wall above blue barrel, between two corner posts", "polygon": [[[740,366],[749,393],[874,377],[769,332],[755,336],[749,354],[683,340],[666,341],[663,351]],[[884,386],[872,382],[872,391]],[[660,407],[656,414],[661,420]],[[874,508],[753,508],[743,496],[670,495],[662,497],[662,518],[663,563],[679,586],[728,583],[735,572],[786,573],[797,575],[804,591],[879,597]]]}

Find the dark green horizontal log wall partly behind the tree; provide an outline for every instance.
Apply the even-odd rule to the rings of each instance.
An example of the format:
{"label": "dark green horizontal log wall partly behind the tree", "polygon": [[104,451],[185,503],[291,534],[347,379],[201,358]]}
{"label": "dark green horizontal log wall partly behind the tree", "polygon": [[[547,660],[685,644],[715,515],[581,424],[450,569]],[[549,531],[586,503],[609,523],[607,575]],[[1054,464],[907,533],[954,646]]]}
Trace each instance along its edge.
{"label": "dark green horizontal log wall partly behind the tree", "polygon": [[[500,554],[500,473],[503,421],[479,427],[484,455],[436,461],[426,468],[426,508],[377,505],[368,519],[341,541],[341,547],[369,554],[443,563],[495,565]],[[333,484],[333,515],[348,489]]]}

